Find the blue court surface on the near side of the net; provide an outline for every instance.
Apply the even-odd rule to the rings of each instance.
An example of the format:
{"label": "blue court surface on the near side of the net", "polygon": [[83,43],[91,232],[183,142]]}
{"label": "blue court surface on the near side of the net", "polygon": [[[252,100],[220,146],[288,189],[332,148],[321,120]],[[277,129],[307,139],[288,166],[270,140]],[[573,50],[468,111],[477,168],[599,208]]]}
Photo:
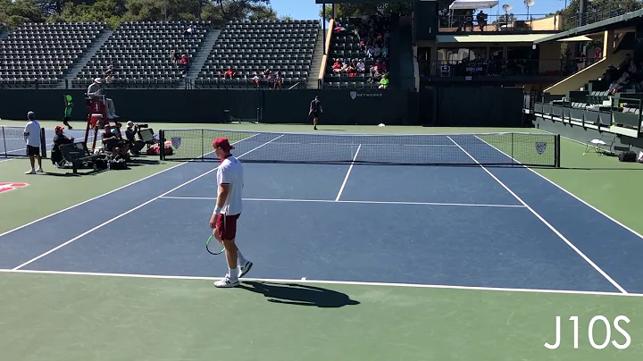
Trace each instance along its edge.
{"label": "blue court surface on the near side of the net", "polygon": [[[0,268],[221,277],[225,257],[205,251],[216,165],[4,233]],[[248,277],[643,293],[643,239],[522,166],[246,163],[245,180]]]}

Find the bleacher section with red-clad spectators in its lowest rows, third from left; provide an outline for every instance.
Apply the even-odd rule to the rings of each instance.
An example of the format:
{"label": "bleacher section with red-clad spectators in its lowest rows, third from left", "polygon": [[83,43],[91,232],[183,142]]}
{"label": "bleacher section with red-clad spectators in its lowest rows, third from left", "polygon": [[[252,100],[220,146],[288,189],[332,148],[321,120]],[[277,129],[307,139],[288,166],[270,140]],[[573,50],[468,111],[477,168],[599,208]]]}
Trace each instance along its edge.
{"label": "bleacher section with red-clad spectators in its lowest rows, third from left", "polygon": [[[305,86],[311,69],[319,21],[230,21],[195,80],[196,88],[252,88],[255,75],[281,72],[283,88]],[[235,76],[225,79],[231,67]]]}

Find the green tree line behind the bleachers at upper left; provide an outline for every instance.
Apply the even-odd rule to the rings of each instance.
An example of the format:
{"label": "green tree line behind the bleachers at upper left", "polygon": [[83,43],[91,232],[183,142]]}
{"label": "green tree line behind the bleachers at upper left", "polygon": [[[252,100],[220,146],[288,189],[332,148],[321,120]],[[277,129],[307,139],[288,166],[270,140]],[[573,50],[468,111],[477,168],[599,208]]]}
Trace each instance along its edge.
{"label": "green tree line behind the bleachers at upper left", "polygon": [[0,23],[276,20],[270,0],[0,0]]}

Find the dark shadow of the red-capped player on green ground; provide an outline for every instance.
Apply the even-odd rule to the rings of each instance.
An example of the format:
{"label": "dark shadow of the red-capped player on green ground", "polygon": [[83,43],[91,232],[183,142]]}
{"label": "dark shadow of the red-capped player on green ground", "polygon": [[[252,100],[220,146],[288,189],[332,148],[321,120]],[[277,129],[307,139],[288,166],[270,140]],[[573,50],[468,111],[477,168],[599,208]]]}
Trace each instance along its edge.
{"label": "dark shadow of the red-capped player on green ground", "polygon": [[239,287],[263,294],[268,302],[283,305],[336,308],[360,304],[345,293],[304,284],[244,281]]}

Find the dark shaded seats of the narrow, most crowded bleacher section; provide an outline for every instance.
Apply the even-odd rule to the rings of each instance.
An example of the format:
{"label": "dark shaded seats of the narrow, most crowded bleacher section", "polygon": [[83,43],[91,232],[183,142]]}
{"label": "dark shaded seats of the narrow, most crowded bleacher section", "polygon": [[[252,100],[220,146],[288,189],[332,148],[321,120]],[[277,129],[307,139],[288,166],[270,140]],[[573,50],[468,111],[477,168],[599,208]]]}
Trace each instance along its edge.
{"label": "dark shaded seats of the narrow, most crowded bleacher section", "polygon": [[[363,50],[360,50],[360,38],[355,35],[355,26],[359,26],[362,18],[338,18],[338,23],[346,31],[333,31],[330,40],[330,52],[326,71],[324,72],[325,87],[330,88],[378,88],[379,81],[369,81],[371,74],[369,69],[375,64],[375,59],[366,56]],[[351,63],[353,61],[363,60],[366,71],[350,76],[346,73],[333,72],[333,63]]]}

